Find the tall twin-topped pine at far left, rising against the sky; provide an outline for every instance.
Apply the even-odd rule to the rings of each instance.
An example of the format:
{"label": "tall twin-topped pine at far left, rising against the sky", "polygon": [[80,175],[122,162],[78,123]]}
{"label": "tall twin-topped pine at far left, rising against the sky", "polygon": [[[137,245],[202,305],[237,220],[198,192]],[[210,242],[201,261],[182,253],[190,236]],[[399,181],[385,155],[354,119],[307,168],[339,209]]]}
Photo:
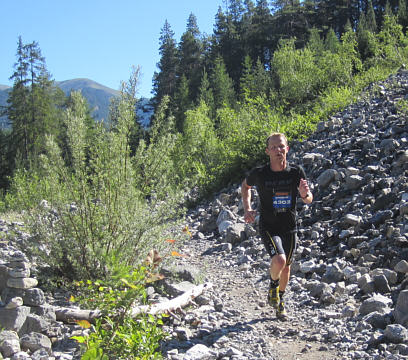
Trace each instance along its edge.
{"label": "tall twin-topped pine at far left, rising against the sky", "polygon": [[7,116],[11,122],[10,161],[29,167],[44,150],[45,136],[58,135],[61,108],[65,101],[45,65],[37,42],[17,46],[17,62],[10,77],[14,81],[7,100]]}

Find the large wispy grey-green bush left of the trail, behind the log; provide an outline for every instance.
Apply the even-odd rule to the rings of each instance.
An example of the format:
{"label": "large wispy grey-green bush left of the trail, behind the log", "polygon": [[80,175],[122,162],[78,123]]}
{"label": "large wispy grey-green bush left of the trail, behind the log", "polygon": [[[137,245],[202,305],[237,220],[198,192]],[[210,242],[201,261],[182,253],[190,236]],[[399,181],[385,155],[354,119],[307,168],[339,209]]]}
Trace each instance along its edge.
{"label": "large wispy grey-green bush left of the trail, behind the log", "polygon": [[[98,126],[89,144],[80,94],[73,99],[65,118],[73,167],[49,137],[41,166],[14,178],[9,204],[28,210],[30,231],[43,245],[33,251],[44,263],[72,279],[103,278],[112,263],[138,264],[150,249],[165,249],[166,236],[179,236],[166,232],[183,211],[183,197],[174,186],[164,186],[165,180],[155,179],[160,157],[149,163],[174,141],[163,135],[156,143],[159,151],[154,144],[140,146],[136,153],[145,161],[145,177],[136,166],[140,159],[130,156],[132,102],[122,98],[114,128]],[[142,180],[149,178],[153,184],[146,187]]]}

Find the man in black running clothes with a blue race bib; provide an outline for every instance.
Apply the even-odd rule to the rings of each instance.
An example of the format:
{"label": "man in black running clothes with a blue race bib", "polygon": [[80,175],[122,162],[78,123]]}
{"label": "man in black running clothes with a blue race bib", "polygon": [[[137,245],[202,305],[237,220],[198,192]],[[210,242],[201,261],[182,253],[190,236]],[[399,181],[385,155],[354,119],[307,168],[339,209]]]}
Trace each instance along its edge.
{"label": "man in black running clothes with a blue race bib", "polygon": [[305,204],[313,201],[305,171],[301,166],[287,162],[288,151],[286,136],[272,133],[266,140],[265,152],[269,156],[269,163],[252,169],[241,186],[244,219],[248,223],[254,222],[257,214],[251,207],[252,186],[256,186],[259,195],[259,233],[271,256],[268,302],[282,320],[287,318],[283,295],[296,251],[297,195]]}

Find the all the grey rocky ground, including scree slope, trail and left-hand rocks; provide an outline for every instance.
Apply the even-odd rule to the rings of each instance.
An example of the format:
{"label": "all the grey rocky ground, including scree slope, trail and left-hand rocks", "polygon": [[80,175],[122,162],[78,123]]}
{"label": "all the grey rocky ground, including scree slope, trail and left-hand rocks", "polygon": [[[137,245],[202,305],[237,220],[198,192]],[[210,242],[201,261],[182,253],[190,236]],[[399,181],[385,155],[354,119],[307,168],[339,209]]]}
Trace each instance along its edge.
{"label": "all the grey rocky ground, including scree slope, trail and left-hand rocks", "polygon": [[[314,202],[299,204],[299,248],[285,294],[289,321],[267,305],[269,258],[245,224],[239,185],[191,211],[191,233],[152,302],[205,283],[172,312],[165,359],[408,358],[408,73],[372,86],[371,97],[319,124],[291,145]],[[257,196],[254,191],[253,199]],[[75,359],[78,326],[58,319],[21,251],[29,235],[0,241],[0,352],[10,359]],[[162,290],[165,292],[162,292]],[[160,291],[159,291],[160,290]],[[18,316],[17,316],[18,314]],[[7,319],[7,322],[4,320]],[[11,331],[14,330],[14,331]]]}

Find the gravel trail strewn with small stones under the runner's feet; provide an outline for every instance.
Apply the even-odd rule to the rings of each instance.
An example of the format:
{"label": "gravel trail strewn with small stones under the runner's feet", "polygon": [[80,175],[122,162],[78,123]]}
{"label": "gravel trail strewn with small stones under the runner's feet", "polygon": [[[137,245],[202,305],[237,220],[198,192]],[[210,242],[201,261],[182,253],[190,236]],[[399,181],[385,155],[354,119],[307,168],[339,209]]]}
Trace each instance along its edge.
{"label": "gravel trail strewn with small stones under the runner's feet", "polygon": [[[319,314],[312,304],[301,304],[304,295],[289,290],[286,304],[290,318],[278,320],[266,302],[268,261],[257,268],[236,266],[232,253],[214,254],[213,246],[213,242],[193,236],[184,249],[187,258],[179,270],[197,274],[191,266],[201,269],[199,275],[212,287],[196,299],[201,315],[197,318],[196,309],[191,312],[197,318],[195,329],[175,327],[176,337],[184,340],[170,342],[178,349],[168,352],[170,359],[341,358],[338,350],[320,341],[325,327],[321,320],[329,320],[332,313]],[[211,302],[212,306],[205,306]],[[187,355],[176,355],[181,349],[187,350]]]}

